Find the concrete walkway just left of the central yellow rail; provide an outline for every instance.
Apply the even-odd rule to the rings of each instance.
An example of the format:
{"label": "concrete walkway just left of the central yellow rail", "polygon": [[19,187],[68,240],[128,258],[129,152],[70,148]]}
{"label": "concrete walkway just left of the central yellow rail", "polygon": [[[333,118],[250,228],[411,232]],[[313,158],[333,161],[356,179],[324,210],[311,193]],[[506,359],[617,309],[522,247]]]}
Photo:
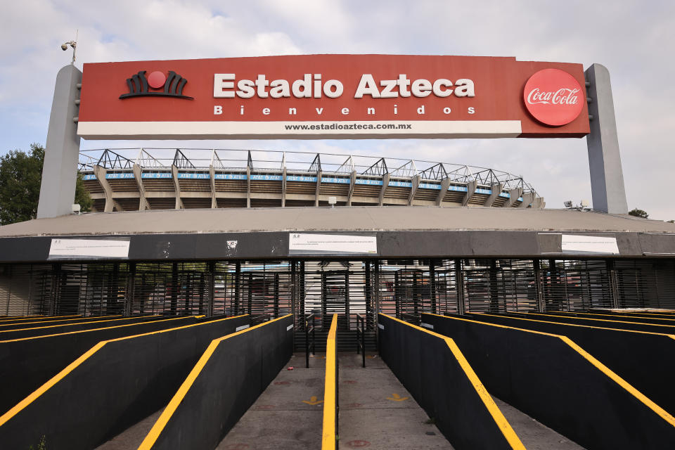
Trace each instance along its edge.
{"label": "concrete walkway just left of the central yellow rail", "polygon": [[257,401],[217,446],[217,450],[321,449],[325,354],[295,354]]}

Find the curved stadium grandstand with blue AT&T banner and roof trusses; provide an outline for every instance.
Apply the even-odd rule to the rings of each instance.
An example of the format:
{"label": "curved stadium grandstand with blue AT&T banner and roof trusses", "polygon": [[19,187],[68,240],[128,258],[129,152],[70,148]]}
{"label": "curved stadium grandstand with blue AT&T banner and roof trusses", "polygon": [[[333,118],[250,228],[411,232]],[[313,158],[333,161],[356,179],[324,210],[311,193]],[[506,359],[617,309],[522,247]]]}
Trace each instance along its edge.
{"label": "curved stadium grandstand with blue AT&T banner and roof trusses", "polygon": [[543,208],[522,176],[360,155],[223,149],[82,150],[94,210],[336,206]]}

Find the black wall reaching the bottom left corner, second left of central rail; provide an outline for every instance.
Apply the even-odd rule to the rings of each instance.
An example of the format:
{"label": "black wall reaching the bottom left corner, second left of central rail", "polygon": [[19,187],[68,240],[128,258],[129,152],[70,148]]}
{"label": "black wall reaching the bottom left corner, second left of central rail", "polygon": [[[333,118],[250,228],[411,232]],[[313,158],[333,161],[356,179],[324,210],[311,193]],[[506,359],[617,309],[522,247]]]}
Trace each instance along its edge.
{"label": "black wall reaching the bottom left corner, second left of central rail", "polygon": [[49,450],[94,449],[162,409],[214,338],[249,323],[240,316],[106,342],[0,426],[0,442],[27,449],[45,435]]}

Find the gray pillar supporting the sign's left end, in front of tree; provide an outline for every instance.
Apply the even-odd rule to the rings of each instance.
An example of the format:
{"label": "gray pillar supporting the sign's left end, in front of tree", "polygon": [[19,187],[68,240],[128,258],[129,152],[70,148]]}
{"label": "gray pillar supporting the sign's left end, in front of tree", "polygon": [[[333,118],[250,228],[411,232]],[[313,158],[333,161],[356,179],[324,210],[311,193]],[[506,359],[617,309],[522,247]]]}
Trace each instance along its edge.
{"label": "gray pillar supporting the sign's left end, in front of tree", "polygon": [[72,214],[75,199],[75,179],[79,156],[77,122],[79,85],[82,72],[74,65],[58,71],[54,99],[51,103],[49,129],[44,152],[44,167],[37,218],[57,217]]}

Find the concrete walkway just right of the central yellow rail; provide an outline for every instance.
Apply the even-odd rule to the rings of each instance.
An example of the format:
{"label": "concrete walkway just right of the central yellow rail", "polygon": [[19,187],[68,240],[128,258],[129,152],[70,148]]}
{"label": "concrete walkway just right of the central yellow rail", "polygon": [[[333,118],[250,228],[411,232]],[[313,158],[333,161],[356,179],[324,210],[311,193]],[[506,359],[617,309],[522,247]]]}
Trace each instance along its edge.
{"label": "concrete walkway just right of the central yellow rail", "polygon": [[376,354],[340,353],[340,449],[452,449]]}

